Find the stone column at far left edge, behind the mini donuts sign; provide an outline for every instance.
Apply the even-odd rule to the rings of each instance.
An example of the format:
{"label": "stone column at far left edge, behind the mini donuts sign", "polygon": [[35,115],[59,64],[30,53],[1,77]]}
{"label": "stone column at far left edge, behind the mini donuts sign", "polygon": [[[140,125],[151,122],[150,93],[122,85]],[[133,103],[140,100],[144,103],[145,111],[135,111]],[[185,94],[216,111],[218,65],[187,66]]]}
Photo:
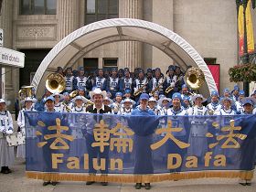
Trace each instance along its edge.
{"label": "stone column at far left edge, behind the mini donuts sign", "polygon": [[[0,27],[4,30],[4,48],[13,48],[13,0],[3,0],[0,16]],[[15,68],[5,67],[5,99],[8,103],[8,110],[13,110],[15,101],[14,81]],[[9,105],[10,103],[10,105]]]}

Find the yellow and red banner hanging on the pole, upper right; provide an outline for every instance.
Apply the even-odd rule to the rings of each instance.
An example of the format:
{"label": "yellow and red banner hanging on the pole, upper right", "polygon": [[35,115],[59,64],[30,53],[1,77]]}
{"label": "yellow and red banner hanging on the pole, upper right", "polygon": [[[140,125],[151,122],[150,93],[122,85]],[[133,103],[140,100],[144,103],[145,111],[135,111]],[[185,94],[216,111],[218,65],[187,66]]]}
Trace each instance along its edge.
{"label": "yellow and red banner hanging on the pole, upper right", "polygon": [[[255,0],[253,0],[255,1]],[[255,3],[255,2],[254,2]],[[243,5],[239,7],[239,16],[238,16],[238,27],[239,27],[239,54],[243,55],[244,48],[244,23],[243,23]],[[246,7],[246,28],[247,28],[247,48],[248,53],[254,51],[254,37],[253,37],[253,27],[251,21],[251,0],[248,1]]]}

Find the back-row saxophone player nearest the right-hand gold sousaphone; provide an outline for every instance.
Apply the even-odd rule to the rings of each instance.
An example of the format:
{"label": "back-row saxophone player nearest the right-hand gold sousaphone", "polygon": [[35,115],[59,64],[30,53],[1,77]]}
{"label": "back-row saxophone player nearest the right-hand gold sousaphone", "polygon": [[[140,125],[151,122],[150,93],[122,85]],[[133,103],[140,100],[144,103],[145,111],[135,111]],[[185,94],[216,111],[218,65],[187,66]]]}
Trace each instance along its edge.
{"label": "back-row saxophone player nearest the right-hand gold sousaphone", "polygon": [[176,92],[175,86],[176,86],[176,74],[175,74],[175,68],[173,65],[170,65],[168,67],[168,70],[166,71],[167,77],[165,78],[164,82],[164,91],[165,95],[168,98],[172,98],[172,95]]}

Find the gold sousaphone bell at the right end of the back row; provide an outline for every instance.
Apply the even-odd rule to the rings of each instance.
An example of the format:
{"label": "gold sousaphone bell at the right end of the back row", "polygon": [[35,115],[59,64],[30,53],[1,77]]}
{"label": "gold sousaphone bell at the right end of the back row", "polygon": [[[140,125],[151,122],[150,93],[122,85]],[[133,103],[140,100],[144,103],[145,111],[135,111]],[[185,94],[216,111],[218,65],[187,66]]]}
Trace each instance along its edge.
{"label": "gold sousaphone bell at the right end of the back row", "polygon": [[192,67],[187,69],[185,81],[191,90],[198,90],[205,82],[205,75],[201,69]]}

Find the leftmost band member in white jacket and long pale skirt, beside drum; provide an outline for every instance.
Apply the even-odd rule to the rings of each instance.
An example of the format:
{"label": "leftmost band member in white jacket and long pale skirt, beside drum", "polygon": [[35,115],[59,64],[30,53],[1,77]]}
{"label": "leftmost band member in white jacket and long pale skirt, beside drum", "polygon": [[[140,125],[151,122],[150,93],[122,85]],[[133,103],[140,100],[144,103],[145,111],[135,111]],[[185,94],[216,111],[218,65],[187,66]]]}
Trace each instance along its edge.
{"label": "leftmost band member in white jacket and long pale skirt, beside drum", "polygon": [[14,147],[8,146],[6,142],[6,135],[13,132],[12,115],[6,111],[5,100],[0,99],[0,166],[3,174],[11,173],[9,166],[15,163]]}

